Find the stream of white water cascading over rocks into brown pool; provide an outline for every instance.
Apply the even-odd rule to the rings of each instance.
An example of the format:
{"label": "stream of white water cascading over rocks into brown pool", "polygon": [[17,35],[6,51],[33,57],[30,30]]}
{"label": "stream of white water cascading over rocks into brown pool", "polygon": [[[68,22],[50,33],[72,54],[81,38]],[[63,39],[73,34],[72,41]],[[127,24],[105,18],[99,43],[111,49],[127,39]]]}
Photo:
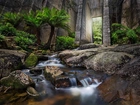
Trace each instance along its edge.
{"label": "stream of white water cascading over rocks into brown pool", "polygon": [[[43,75],[45,66],[60,67],[68,76],[70,87],[54,87]],[[99,97],[97,90],[97,87],[102,83],[102,80],[97,78],[99,75],[88,72],[90,75],[87,76],[85,74],[88,74],[88,70],[84,68],[66,67],[57,58],[57,55],[49,56],[47,61],[39,62],[36,68],[41,69],[33,73],[29,69],[25,69],[23,72],[34,80],[35,89],[40,93],[40,96],[31,95],[20,104],[16,100],[17,102],[9,105],[106,105]],[[79,75],[75,76],[76,73]],[[60,81],[62,82],[63,79]]]}

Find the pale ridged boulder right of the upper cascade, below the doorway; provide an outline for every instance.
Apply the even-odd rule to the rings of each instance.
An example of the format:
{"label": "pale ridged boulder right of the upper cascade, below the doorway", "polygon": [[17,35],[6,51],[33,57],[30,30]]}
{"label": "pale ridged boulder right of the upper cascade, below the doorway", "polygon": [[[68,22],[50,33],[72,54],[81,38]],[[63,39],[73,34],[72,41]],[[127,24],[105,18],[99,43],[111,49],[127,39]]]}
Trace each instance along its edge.
{"label": "pale ridged boulder right of the upper cascade, below the doorway", "polygon": [[75,67],[83,66],[83,61],[95,54],[97,54],[97,49],[66,50],[59,53],[58,56],[66,65]]}

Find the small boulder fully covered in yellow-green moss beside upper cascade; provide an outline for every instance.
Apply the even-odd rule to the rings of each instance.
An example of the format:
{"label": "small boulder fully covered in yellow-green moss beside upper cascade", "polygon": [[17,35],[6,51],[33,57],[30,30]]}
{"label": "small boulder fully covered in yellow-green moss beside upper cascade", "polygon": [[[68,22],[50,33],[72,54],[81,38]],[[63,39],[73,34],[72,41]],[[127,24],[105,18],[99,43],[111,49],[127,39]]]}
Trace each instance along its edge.
{"label": "small boulder fully covered in yellow-green moss beside upper cascade", "polygon": [[30,68],[34,67],[38,62],[38,57],[34,53],[31,53],[25,60],[25,66]]}

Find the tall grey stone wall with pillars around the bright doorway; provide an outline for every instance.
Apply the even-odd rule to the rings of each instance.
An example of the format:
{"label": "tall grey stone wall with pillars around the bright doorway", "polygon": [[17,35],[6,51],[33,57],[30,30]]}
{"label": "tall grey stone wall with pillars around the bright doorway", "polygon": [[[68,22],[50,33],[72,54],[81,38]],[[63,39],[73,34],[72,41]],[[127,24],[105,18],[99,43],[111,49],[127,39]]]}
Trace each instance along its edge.
{"label": "tall grey stone wall with pillars around the bright doorway", "polygon": [[[69,25],[71,30],[75,32],[75,42],[82,44],[92,42],[92,18],[103,17],[103,43],[110,45],[110,11],[108,2],[115,0],[0,0],[0,12],[3,11],[16,11],[22,10],[36,10],[42,7],[55,7],[57,9],[65,9],[70,15]],[[130,1],[136,1],[134,4],[134,11],[129,12],[126,16],[125,9],[129,10]],[[73,5],[75,2],[76,5]],[[122,4],[122,24],[124,25],[139,25],[140,24],[140,0],[124,0]],[[133,9],[133,8],[131,8]],[[104,12],[103,12],[104,11]],[[121,11],[119,12],[121,14]],[[115,15],[114,15],[115,16]],[[110,20],[110,22],[109,22]],[[130,20],[130,21],[129,21]],[[133,22],[133,24],[132,24]],[[42,42],[46,43],[46,37],[49,36],[49,27],[42,28]],[[56,35],[67,35],[68,33],[62,29],[56,30]],[[45,38],[44,38],[45,37]],[[107,39],[108,38],[108,39]],[[107,44],[108,43],[108,44]]]}

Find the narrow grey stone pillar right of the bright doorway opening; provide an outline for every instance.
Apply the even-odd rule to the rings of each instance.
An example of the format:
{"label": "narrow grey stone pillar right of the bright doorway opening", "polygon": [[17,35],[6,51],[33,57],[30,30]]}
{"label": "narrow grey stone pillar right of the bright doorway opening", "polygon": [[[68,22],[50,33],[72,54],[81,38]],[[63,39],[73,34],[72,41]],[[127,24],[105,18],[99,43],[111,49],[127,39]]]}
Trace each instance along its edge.
{"label": "narrow grey stone pillar right of the bright doorway opening", "polygon": [[104,46],[109,46],[111,44],[108,3],[109,3],[108,0],[104,0],[103,2],[103,45]]}

